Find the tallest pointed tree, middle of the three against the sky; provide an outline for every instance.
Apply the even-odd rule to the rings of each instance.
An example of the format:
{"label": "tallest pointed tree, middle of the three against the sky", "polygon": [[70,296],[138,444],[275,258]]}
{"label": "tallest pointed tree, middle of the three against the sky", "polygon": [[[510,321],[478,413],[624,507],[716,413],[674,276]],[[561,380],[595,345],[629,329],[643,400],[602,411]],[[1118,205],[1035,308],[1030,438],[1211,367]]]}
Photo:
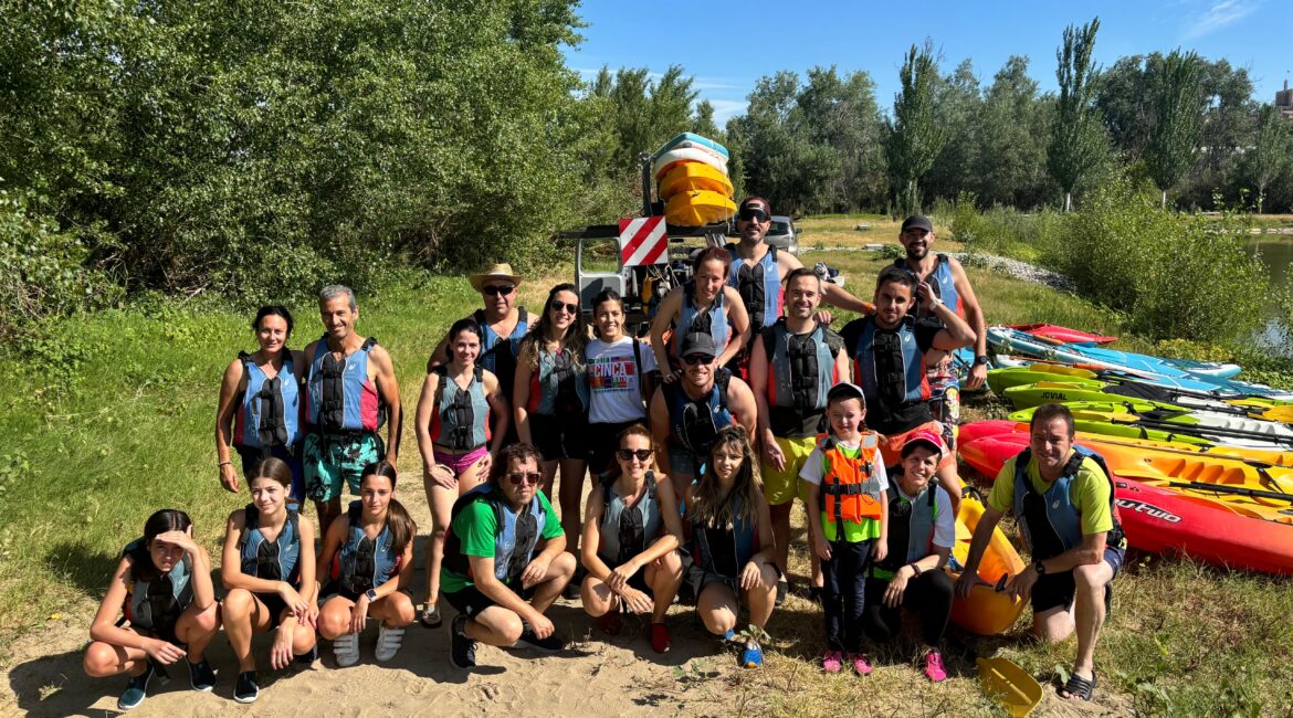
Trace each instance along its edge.
{"label": "tallest pointed tree, middle of the three against the sky", "polygon": [[1095,169],[1104,155],[1106,136],[1093,107],[1095,34],[1100,18],[1082,27],[1064,28],[1064,43],[1055,50],[1059,67],[1059,103],[1046,149],[1046,168],[1064,192],[1064,210],[1073,205],[1073,190]]}

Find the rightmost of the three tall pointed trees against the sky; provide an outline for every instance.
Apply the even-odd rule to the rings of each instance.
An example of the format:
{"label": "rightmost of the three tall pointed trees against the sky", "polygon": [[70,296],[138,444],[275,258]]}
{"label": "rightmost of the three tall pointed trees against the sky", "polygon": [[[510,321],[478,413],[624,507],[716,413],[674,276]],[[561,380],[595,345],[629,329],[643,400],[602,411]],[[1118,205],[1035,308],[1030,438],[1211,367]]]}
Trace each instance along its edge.
{"label": "rightmost of the three tall pointed trees against the sky", "polygon": [[1195,167],[1202,134],[1202,63],[1192,52],[1174,50],[1152,72],[1156,121],[1144,161],[1166,208],[1168,190]]}

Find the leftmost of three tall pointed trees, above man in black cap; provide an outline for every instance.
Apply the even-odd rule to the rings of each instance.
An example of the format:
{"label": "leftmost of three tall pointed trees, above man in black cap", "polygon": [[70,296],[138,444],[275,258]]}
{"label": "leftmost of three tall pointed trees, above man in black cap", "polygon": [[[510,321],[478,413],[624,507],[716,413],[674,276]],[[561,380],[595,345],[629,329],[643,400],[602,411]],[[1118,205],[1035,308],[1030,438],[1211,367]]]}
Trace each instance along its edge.
{"label": "leftmost of three tall pointed trees, above man in black cap", "polygon": [[897,214],[919,212],[921,178],[930,172],[946,142],[935,107],[937,76],[934,44],[926,40],[923,48],[912,45],[899,71],[901,89],[893,96],[893,118],[887,123],[884,142]]}

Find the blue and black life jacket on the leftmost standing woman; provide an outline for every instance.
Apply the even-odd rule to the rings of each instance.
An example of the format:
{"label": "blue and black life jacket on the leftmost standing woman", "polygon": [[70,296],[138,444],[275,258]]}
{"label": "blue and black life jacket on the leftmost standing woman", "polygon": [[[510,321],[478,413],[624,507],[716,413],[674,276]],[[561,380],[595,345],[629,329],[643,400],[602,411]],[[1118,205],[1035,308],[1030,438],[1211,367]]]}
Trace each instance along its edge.
{"label": "blue and black life jacket on the leftmost standing woman", "polygon": [[269,449],[292,447],[301,438],[301,386],[292,362],[284,351],[282,368],[273,378],[251,359],[238,353],[243,364],[243,393],[234,412],[234,446]]}

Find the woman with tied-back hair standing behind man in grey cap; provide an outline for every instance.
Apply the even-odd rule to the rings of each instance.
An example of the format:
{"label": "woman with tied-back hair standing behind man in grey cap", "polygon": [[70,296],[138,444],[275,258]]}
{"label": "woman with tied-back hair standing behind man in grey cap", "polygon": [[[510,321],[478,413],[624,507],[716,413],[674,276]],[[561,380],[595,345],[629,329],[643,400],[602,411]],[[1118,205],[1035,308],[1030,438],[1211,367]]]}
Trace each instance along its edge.
{"label": "woman with tied-back hair standing behind man in grey cap", "polygon": [[[650,346],[665,384],[683,376],[681,341],[693,332],[707,333],[719,349],[714,367],[725,367],[750,342],[750,313],[736,287],[728,285],[732,256],[709,247],[692,260],[692,279],[659,303],[650,325]],[[665,334],[672,329],[672,340]]]}

